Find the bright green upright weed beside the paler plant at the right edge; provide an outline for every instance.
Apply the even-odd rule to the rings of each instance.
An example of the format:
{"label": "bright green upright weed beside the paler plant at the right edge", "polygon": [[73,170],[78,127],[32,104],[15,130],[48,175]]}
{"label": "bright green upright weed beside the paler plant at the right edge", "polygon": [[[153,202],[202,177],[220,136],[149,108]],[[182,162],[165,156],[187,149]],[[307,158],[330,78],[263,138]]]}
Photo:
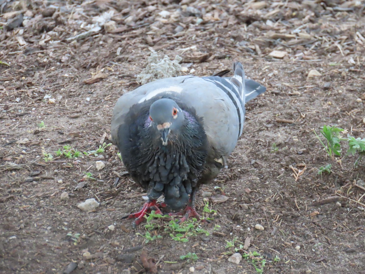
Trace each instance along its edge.
{"label": "bright green upright weed beside the paler plant at the right edge", "polygon": [[314,134],[326,150],[328,156],[331,157],[332,160],[335,159],[335,156],[341,156],[341,137],[340,132],[343,132],[343,129],[337,128],[337,126],[326,126],[324,125],[321,128],[320,133],[326,138],[327,145],[325,145],[322,140],[319,138],[315,130],[313,130]]}

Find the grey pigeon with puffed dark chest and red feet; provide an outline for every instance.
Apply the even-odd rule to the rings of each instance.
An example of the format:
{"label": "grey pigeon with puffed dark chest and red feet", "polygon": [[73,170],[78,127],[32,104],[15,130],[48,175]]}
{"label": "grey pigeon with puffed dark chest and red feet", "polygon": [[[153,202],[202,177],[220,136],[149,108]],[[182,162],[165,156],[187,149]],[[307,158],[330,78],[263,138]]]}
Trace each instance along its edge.
{"label": "grey pigeon with puffed dark chest and red feet", "polygon": [[[180,222],[195,217],[199,186],[216,178],[227,165],[243,132],[245,103],[264,93],[246,79],[240,62],[213,76],[178,76],[144,84],[120,96],[111,122],[111,139],[135,183],[148,201],[133,227],[155,210],[172,211]],[[163,195],[164,202],[157,202]],[[185,209],[184,209],[185,207]]]}

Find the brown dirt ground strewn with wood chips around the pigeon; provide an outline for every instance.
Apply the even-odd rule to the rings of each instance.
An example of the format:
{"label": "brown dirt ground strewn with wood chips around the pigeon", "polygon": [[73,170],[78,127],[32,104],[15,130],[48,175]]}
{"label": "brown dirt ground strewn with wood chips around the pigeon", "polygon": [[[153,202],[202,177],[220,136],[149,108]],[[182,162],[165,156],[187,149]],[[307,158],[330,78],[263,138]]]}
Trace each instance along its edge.
{"label": "brown dirt ground strewn with wood chips around the pigeon", "polygon": [[[313,133],[337,124],[365,138],[365,1],[221,2],[0,0],[1,273],[145,273],[148,263],[158,273],[260,273],[251,260],[263,258],[262,273],[365,273],[365,160],[331,160]],[[203,191],[221,194],[215,186],[227,201],[208,198],[209,235],[186,243],[163,229],[145,243],[143,224],[121,220],[145,191],[114,145],[55,153],[110,143],[112,108],[153,51],[181,56],[181,75],[238,60],[267,87],[197,209]],[[327,164],[331,174],[319,175]],[[82,212],[89,198],[100,206]],[[262,258],[228,261],[234,240]],[[198,259],[180,259],[188,252]]]}

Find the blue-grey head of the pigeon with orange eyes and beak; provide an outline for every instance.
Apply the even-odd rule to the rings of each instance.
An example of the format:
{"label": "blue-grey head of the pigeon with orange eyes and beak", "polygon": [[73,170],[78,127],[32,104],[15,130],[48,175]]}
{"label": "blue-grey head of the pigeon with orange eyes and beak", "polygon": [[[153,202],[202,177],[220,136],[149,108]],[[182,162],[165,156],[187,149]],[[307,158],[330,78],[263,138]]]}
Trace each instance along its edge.
{"label": "blue-grey head of the pigeon with orange eyes and beak", "polygon": [[150,119],[161,134],[162,145],[167,145],[169,134],[178,134],[185,118],[174,100],[163,98],[151,104]]}

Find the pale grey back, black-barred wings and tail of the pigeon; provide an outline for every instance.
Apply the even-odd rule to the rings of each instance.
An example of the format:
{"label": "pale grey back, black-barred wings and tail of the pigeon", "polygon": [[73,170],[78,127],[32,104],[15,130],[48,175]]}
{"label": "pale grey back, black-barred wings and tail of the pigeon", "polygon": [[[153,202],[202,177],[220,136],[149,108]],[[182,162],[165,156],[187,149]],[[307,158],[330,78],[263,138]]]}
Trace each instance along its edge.
{"label": "pale grey back, black-barred wings and tail of the pigeon", "polygon": [[[233,77],[179,76],[160,79],[121,96],[113,110],[111,135],[118,143],[118,128],[135,104],[171,96],[196,111],[202,118],[210,145],[207,160],[224,165],[242,134],[245,102],[265,92],[259,83],[245,79],[242,64],[234,63]],[[152,100],[154,101],[154,100]]]}

